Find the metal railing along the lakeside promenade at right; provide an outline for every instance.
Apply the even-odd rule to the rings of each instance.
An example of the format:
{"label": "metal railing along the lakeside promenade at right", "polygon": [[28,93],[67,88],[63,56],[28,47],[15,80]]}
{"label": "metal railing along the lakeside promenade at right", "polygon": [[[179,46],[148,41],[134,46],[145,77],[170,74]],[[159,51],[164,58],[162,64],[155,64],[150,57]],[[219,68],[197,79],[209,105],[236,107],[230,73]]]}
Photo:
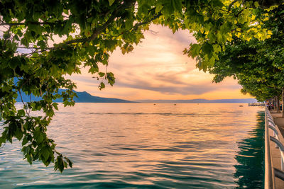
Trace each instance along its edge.
{"label": "metal railing along the lakeside promenade at right", "polygon": [[[279,141],[279,132],[276,128],[271,113],[266,108],[266,126],[265,126],[265,188],[275,188],[275,177],[284,181],[284,146]],[[269,129],[273,130],[273,136],[270,136]],[[273,168],[271,158],[271,146],[270,141],[275,142],[275,147],[279,148],[281,170]]]}

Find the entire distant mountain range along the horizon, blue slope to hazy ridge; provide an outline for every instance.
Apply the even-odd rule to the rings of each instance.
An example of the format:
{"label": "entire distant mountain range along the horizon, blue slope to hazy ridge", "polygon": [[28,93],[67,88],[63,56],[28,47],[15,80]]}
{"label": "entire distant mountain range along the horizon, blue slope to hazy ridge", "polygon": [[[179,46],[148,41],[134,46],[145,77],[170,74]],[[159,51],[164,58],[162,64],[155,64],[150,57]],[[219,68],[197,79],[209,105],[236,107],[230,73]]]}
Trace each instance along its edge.
{"label": "entire distant mountain range along the horizon, blue slope to hazy ridge", "polygon": [[[64,91],[60,89],[59,92]],[[244,99],[220,99],[220,100],[207,100],[207,99],[192,99],[192,100],[138,100],[138,101],[126,101],[119,98],[103,98],[99,96],[92,96],[86,91],[77,92],[77,97],[74,98],[76,103],[256,103],[254,98]],[[29,102],[30,96],[22,93],[23,101]],[[31,96],[31,101],[39,101],[40,97]],[[17,102],[21,102],[21,97],[18,95]],[[62,99],[56,100],[56,102],[62,102]]]}

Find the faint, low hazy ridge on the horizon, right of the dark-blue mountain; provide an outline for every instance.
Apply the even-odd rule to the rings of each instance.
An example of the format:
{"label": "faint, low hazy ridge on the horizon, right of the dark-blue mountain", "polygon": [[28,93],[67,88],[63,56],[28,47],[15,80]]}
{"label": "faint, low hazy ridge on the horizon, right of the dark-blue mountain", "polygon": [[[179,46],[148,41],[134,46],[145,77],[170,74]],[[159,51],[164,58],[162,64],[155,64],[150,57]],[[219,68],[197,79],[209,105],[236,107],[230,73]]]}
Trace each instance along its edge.
{"label": "faint, low hazy ridge on the horizon, right of the dark-blue mountain", "polygon": [[239,99],[192,99],[192,100],[140,100],[139,103],[256,103],[254,98],[239,98]]}

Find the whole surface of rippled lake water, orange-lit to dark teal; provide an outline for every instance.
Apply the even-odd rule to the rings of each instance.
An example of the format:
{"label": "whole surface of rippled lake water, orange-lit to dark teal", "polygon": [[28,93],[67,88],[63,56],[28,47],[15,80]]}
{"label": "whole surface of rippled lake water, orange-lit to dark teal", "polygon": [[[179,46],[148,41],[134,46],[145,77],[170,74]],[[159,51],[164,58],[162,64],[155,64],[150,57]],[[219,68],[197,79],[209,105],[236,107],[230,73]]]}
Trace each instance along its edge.
{"label": "whole surface of rippled lake water, orange-lit to dark teal", "polygon": [[62,174],[0,148],[0,188],[263,188],[263,108],[77,103],[49,127]]}

